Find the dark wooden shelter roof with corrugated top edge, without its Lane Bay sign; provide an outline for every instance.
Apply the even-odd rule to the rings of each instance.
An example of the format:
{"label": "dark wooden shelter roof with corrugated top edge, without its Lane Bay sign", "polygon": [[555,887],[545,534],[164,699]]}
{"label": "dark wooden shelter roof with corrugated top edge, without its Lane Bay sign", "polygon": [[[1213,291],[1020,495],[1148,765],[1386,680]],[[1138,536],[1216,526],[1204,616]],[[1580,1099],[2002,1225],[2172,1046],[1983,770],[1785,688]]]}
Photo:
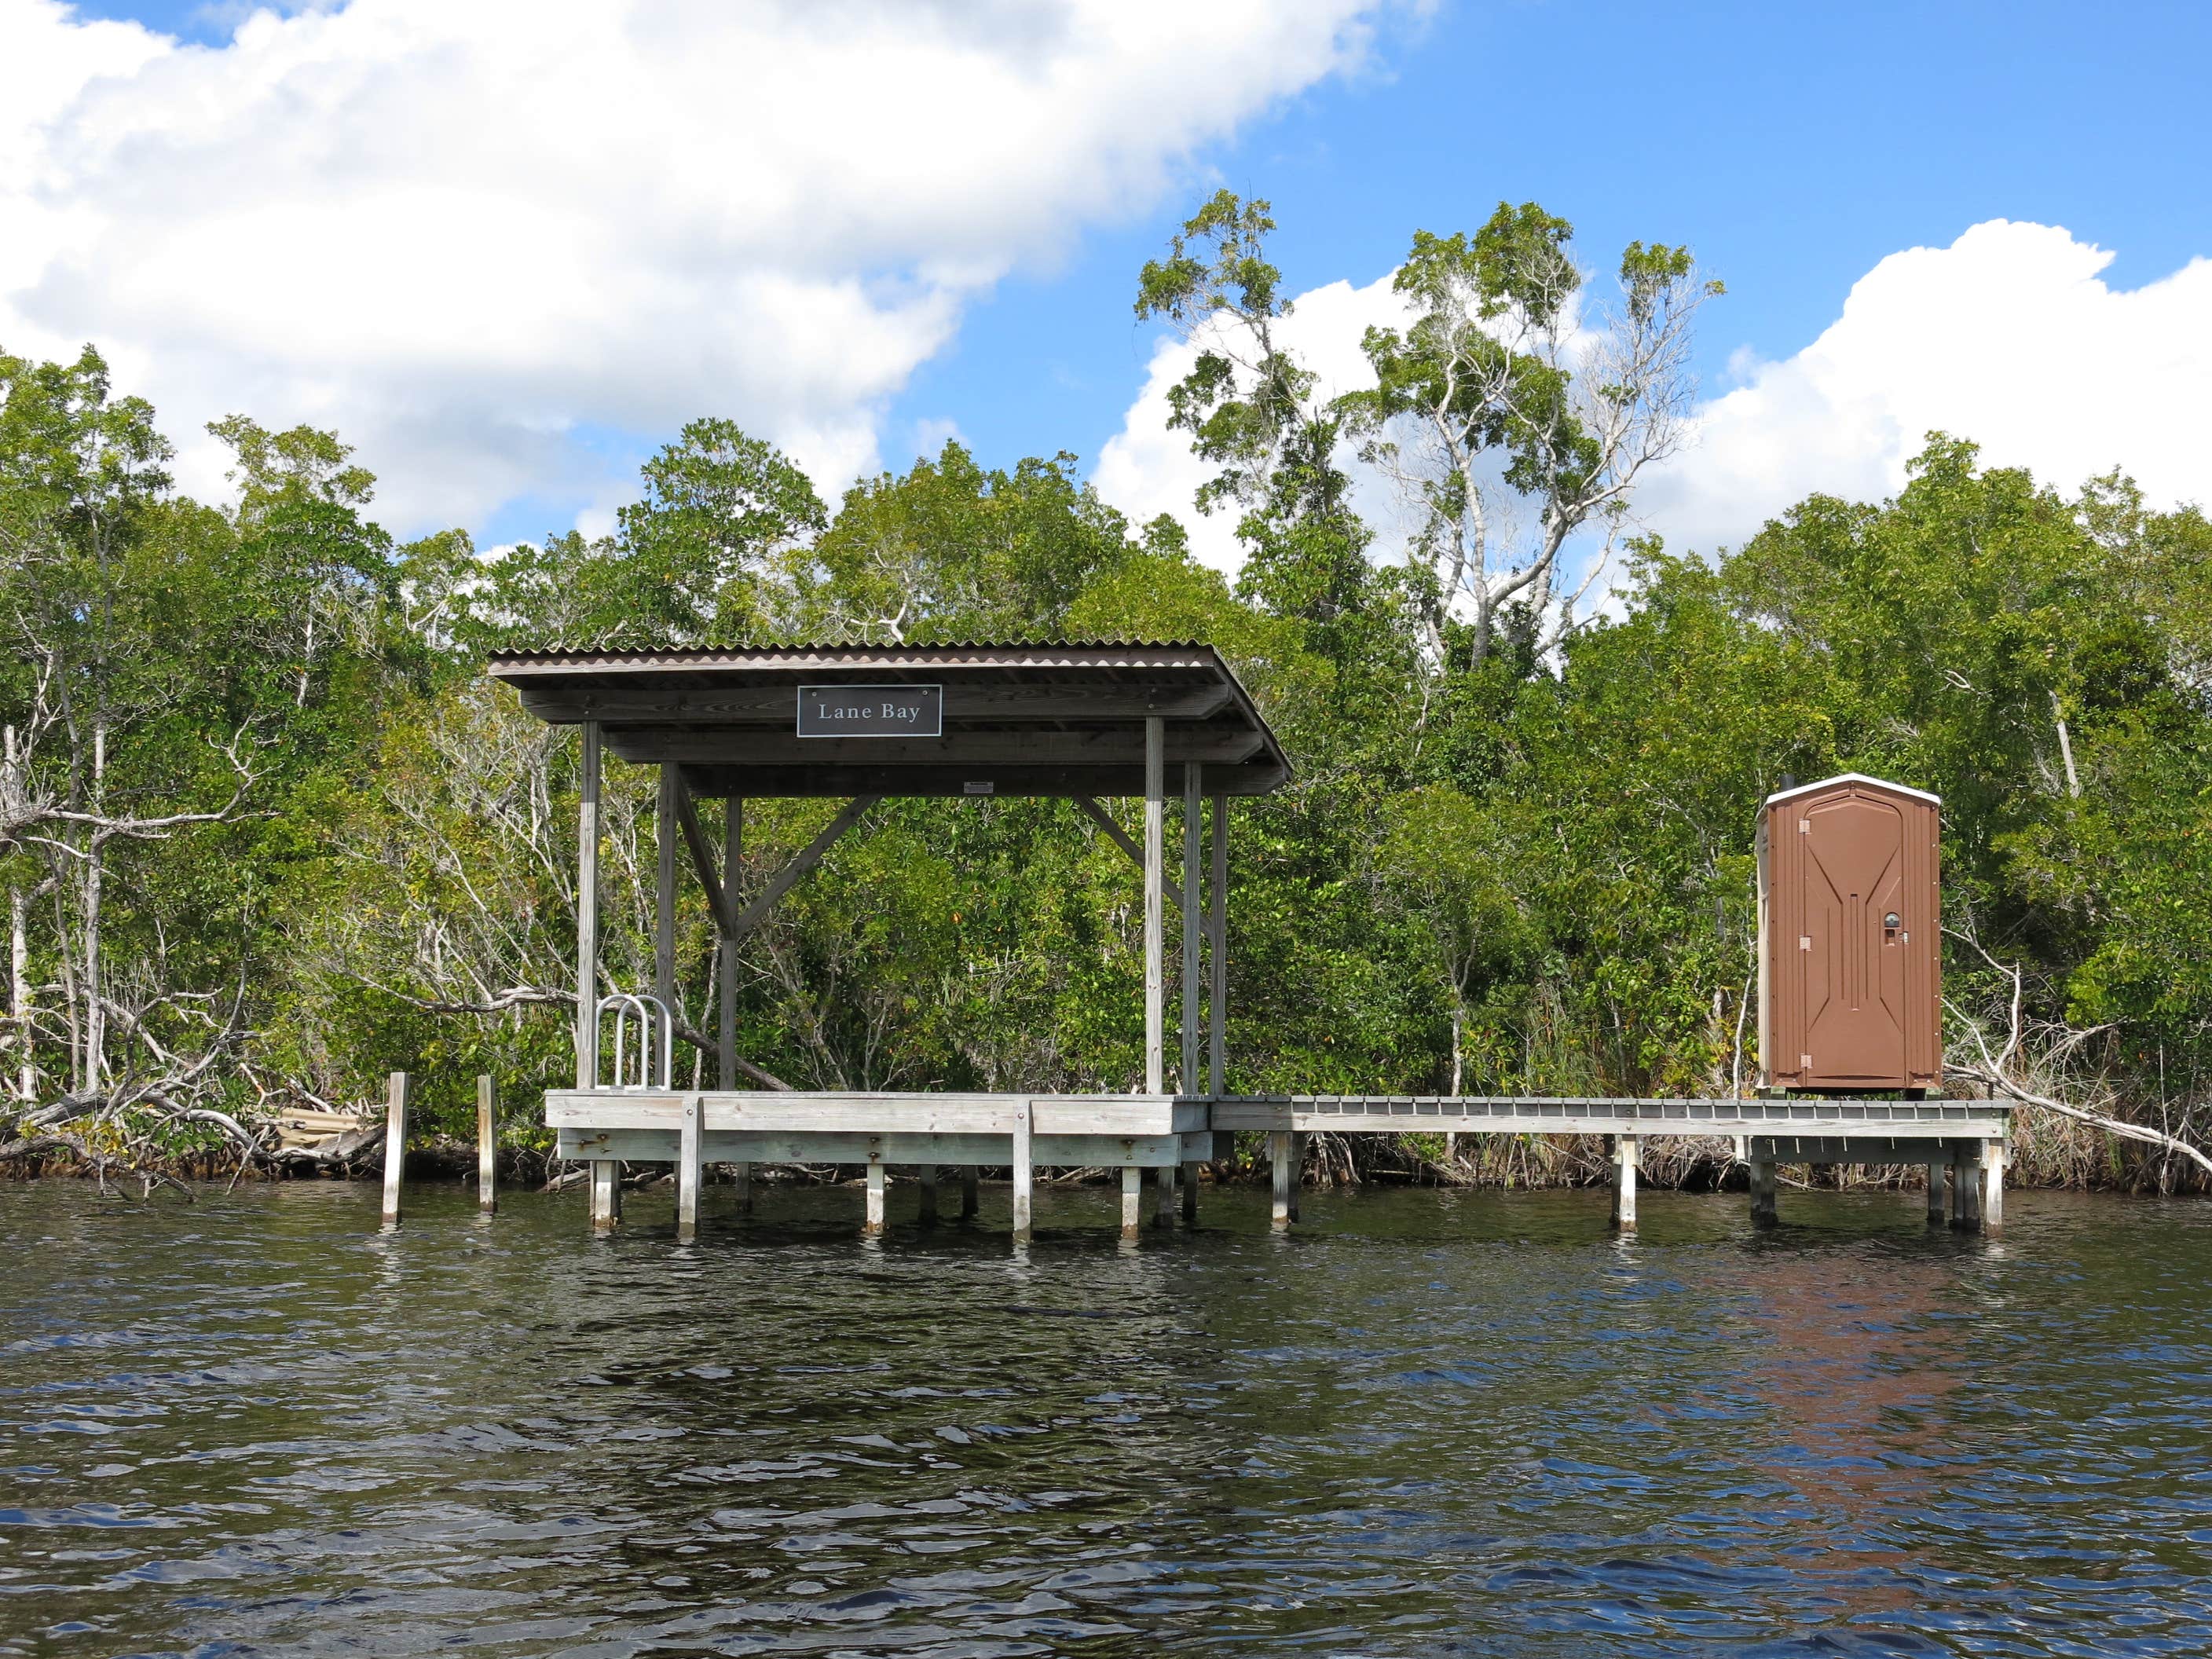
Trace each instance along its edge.
{"label": "dark wooden shelter roof with corrugated top edge, without its Lane Bay sign", "polygon": [[[1144,794],[1164,721],[1166,792],[1267,794],[1290,761],[1201,644],[507,650],[487,664],[555,726],[599,721],[624,761],[675,763],[692,794]],[[801,688],[940,686],[938,737],[801,737]]]}

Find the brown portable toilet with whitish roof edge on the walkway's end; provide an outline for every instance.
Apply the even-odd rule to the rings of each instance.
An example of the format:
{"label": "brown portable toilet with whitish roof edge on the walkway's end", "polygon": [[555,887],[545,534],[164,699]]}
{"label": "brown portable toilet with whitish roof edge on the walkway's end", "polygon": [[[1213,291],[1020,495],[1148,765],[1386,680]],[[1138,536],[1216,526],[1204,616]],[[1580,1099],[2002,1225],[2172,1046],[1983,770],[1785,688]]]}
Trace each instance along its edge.
{"label": "brown portable toilet with whitish roof edge on the walkway's end", "polygon": [[1845,772],[1759,818],[1759,1071],[1772,1091],[1942,1086],[1942,801]]}

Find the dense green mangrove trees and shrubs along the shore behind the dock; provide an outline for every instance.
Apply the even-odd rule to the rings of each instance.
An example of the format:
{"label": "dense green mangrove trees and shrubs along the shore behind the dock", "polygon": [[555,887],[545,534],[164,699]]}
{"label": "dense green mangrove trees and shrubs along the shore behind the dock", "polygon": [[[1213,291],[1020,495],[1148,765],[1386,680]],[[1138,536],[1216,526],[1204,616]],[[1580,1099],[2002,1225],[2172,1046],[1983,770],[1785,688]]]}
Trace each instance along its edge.
{"label": "dense green mangrove trees and shrubs along the shore behind the dock", "polygon": [[[1197,347],[1170,409],[1234,577],[1064,451],[947,442],[830,507],[719,418],[606,535],[400,542],[336,434],[219,420],[232,495],[199,502],[97,349],[0,352],[0,1175],[261,1179],[281,1113],[392,1071],[431,1146],[469,1135],[478,1073],[511,1104],[573,1077],[577,743],[484,679],[491,650],[1206,639],[1296,768],[1232,830],[1230,1091],[1741,1093],[1759,803],[1856,770],[1944,801],[1947,1071],[2026,1102],[2013,1179],[2208,1190],[2212,524],[1929,434],[1889,500],[1668,549],[1635,493],[1692,436],[1692,327],[1723,299],[1688,250],[1593,274],[1535,204],[1420,232],[1374,387],[1323,398],[1279,338],[1272,230],[1223,192],[1137,283]],[[1360,513],[1380,487],[1402,549]],[[739,885],[832,810],[748,803]],[[604,991],[653,978],[653,818],[611,761]],[[721,803],[701,818],[719,841]],[[1139,929],[1064,803],[885,801],[739,956],[741,1066],[1128,1091]],[[712,1082],[719,956],[686,891],[679,1088]],[[1714,1164],[1652,1146],[1646,1179]],[[1588,1144],[1307,1157],[1310,1181],[1597,1177]]]}

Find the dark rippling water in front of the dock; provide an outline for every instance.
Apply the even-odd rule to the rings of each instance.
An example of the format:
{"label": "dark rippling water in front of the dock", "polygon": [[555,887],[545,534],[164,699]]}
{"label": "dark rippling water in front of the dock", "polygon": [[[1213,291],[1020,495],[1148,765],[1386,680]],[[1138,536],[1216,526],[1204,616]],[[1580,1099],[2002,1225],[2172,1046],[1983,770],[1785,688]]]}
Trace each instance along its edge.
{"label": "dark rippling water in front of the dock", "polygon": [[0,1183],[0,1652],[2212,1652],[2212,1206],[411,1197]]}

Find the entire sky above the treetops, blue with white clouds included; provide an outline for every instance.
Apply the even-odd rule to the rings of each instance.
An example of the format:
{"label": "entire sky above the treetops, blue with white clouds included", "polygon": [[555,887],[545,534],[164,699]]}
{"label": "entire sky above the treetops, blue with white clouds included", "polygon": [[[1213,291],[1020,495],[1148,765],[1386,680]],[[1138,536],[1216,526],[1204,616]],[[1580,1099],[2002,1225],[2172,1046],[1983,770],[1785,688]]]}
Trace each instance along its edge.
{"label": "entire sky above the treetops, blue with white clouds included", "polygon": [[[604,529],[692,416],[825,498],[958,436],[1190,518],[1137,268],[1274,204],[1358,378],[1413,230],[1542,201],[1688,243],[1712,551],[1893,491],[1931,427],[2212,498],[2203,7],[1535,0],[0,0],[0,349],[93,341],[221,495],[210,418],[354,442],[396,533]],[[20,88],[29,88],[27,93]],[[1380,489],[1371,484],[1369,491]],[[1387,538],[1385,538],[1387,542]],[[1203,557],[1234,564],[1223,522]]]}

